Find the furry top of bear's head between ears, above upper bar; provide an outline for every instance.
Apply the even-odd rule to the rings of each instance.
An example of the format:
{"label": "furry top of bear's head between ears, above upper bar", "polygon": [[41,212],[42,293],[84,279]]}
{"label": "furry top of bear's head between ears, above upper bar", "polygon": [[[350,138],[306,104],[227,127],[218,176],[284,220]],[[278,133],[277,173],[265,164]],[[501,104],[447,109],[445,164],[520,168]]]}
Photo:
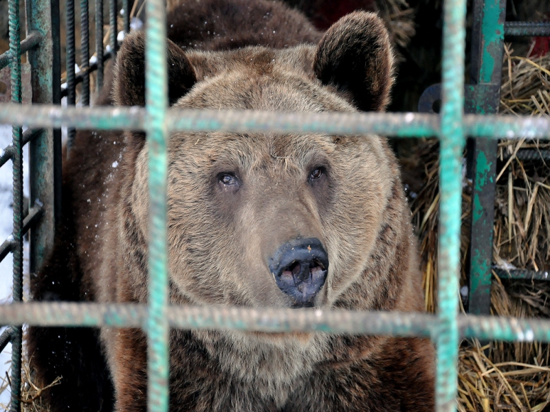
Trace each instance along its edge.
{"label": "furry top of bear's head between ears, above upper bar", "polygon": [[310,47],[195,53],[199,81],[175,106],[261,111],[355,111],[314,76]]}

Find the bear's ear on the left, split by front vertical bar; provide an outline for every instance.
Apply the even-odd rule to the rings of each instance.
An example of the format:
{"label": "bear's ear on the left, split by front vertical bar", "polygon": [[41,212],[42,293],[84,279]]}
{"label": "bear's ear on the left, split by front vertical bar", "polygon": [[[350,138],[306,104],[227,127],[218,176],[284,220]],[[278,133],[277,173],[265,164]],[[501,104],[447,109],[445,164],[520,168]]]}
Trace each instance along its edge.
{"label": "bear's ear on the left, split by front vertical bar", "polygon": [[[166,39],[168,101],[170,105],[197,82],[195,70],[183,50]],[[145,106],[145,34],[124,39],[116,59],[113,100],[117,106]]]}

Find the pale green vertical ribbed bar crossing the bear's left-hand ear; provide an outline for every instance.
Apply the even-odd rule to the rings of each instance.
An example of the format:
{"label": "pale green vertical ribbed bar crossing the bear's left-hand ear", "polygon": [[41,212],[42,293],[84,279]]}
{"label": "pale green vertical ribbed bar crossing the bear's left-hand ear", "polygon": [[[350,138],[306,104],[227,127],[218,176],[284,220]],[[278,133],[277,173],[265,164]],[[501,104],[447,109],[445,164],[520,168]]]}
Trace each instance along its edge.
{"label": "pale green vertical ribbed bar crossing the bear's left-hand ear", "polygon": [[149,156],[148,411],[168,411],[168,258],[166,255],[166,16],[163,0],[147,1],[146,113]]}

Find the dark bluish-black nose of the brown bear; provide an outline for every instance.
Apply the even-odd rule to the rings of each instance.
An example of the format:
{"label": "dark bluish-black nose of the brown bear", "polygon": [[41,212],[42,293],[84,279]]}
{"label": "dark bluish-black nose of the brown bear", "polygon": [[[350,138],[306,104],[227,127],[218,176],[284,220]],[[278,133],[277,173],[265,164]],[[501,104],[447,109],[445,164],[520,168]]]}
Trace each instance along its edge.
{"label": "dark bluish-black nose of the brown bear", "polygon": [[317,238],[286,242],[270,260],[270,271],[275,282],[292,298],[294,308],[314,306],[328,270],[329,257]]}

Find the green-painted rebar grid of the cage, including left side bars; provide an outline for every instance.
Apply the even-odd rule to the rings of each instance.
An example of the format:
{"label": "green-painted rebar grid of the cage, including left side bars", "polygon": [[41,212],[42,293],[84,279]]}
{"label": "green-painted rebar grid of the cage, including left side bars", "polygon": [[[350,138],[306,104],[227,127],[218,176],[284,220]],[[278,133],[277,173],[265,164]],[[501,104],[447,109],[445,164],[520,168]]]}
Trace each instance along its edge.
{"label": "green-painted rebar grid of the cage, including left side bars", "polygon": [[[14,255],[14,303],[0,306],[0,323],[14,325],[0,337],[0,347],[11,340],[12,411],[19,411],[21,377],[21,325],[74,325],[141,327],[148,338],[148,410],[168,410],[169,328],[237,329],[263,332],[323,331],[333,333],[384,334],[429,337],[437,345],[437,411],[454,411],[456,365],[459,339],[505,341],[550,341],[550,321],[459,316],[461,162],[466,136],[488,141],[499,138],[550,137],[550,120],[496,115],[464,115],[465,0],[445,0],[443,29],[443,82],[441,115],[413,113],[272,113],[254,111],[194,111],[168,108],[166,74],[165,6],[163,0],[146,5],[146,106],[145,108],[76,108],[74,32],[67,38],[66,108],[55,105],[61,98],[61,78],[51,62],[59,62],[58,38],[52,25],[58,24],[55,4],[30,0],[36,12],[28,17],[27,43],[19,41],[19,3],[10,0],[10,51],[12,104],[0,106],[0,123],[14,124],[13,143],[8,155],[14,165],[14,231],[0,249],[0,257]],[[494,3],[494,2],[493,2]],[[89,104],[89,71],[97,67],[98,88],[102,84],[104,58],[113,56],[117,44],[117,3],[111,0],[111,30],[108,53],[103,52],[102,0],[96,0],[97,62],[89,61],[87,36],[88,2],[81,1],[83,36],[81,69],[83,106]],[[53,5],[53,6],[52,6]],[[32,6],[31,6],[32,8]],[[500,9],[499,9],[500,10]],[[43,13],[41,20],[40,13]],[[57,19],[57,20],[56,20]],[[67,32],[74,25],[74,1],[67,1]],[[503,22],[499,23],[503,29]],[[487,27],[485,27],[487,28]],[[538,27],[537,30],[539,30]],[[124,1],[124,29],[129,30],[128,2]],[[487,28],[487,30],[492,30]],[[511,30],[511,28],[509,29]],[[52,36],[52,33],[54,36]],[[72,36],[72,37],[71,37]],[[484,34],[485,36],[485,34]],[[500,38],[502,34],[499,34]],[[484,37],[487,39],[487,36]],[[24,47],[23,47],[24,44]],[[36,45],[40,49],[32,49]],[[34,66],[32,106],[21,106],[21,59],[25,50]],[[40,52],[39,52],[40,50]],[[7,60],[6,60],[7,59]],[[0,61],[4,61],[0,60]],[[58,65],[59,67],[59,65]],[[483,71],[483,70],[482,70]],[[32,129],[22,133],[21,126]],[[55,216],[60,213],[58,190],[61,142],[54,128],[144,130],[149,145],[149,214],[151,239],[148,254],[148,305],[21,303],[22,236],[32,225],[32,260],[39,268],[52,244]],[[43,128],[43,129],[36,129]],[[337,135],[381,134],[395,137],[436,135],[441,140],[441,203],[439,228],[439,287],[437,315],[349,312],[338,310],[285,310],[175,307],[168,304],[166,245],[166,142],[175,130],[230,131],[236,133],[332,133]],[[25,132],[26,133],[26,132]],[[69,144],[72,132],[69,133]],[[22,157],[26,141],[32,141],[31,212],[23,220]],[[33,154],[34,153],[34,154]],[[33,180],[34,179],[34,180]],[[34,182],[34,183],[33,183]],[[57,197],[56,197],[57,196]],[[57,200],[56,200],[57,199]],[[3,255],[2,255],[3,253]]]}

